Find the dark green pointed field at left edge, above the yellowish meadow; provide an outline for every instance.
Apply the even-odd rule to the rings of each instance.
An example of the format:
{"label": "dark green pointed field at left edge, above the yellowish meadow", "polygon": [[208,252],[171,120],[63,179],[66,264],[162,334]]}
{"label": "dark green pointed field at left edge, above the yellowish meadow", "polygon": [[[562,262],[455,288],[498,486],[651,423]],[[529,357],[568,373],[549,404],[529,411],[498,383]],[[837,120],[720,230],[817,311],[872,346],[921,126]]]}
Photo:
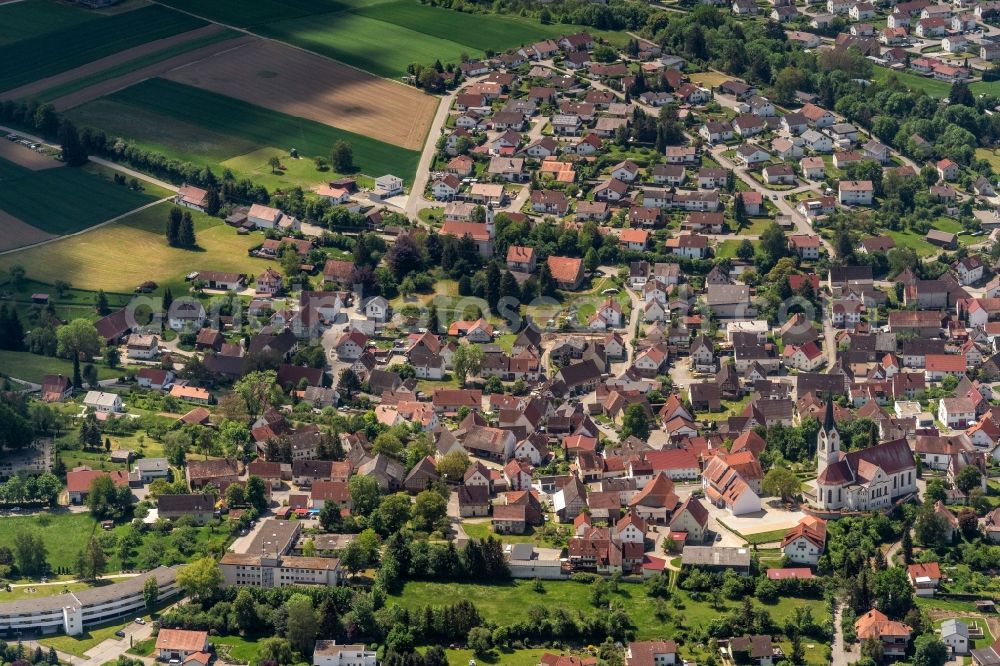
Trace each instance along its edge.
{"label": "dark green pointed field at left edge, above the yellowish meadow", "polygon": [[31,171],[0,159],[0,209],[51,234],[68,234],[153,201],[87,168]]}

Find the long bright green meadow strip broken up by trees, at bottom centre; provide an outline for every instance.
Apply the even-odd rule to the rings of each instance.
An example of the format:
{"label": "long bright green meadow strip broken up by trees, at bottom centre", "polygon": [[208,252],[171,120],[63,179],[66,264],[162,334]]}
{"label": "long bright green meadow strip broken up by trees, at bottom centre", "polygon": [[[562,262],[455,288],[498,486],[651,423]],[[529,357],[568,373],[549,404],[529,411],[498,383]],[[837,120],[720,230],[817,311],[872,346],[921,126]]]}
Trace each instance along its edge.
{"label": "long bright green meadow strip broken up by trees, at bottom centre", "polygon": [[[485,620],[510,623],[524,620],[532,606],[545,606],[549,611],[563,608],[572,615],[576,611],[585,614],[599,612],[590,604],[590,585],[572,581],[543,581],[544,592],[535,592],[531,581],[513,581],[504,585],[476,585],[463,583],[409,582],[401,594],[390,595],[388,603],[399,604],[414,610],[428,603],[453,603],[458,599],[470,599]],[[611,594],[612,602],[621,602],[637,627],[639,640],[668,638],[677,634],[678,621],[685,627],[704,626],[720,615],[708,602],[692,601],[687,593],[677,590],[674,595],[681,598],[683,609],[678,609],[664,622],[656,617],[656,604],[646,594],[646,587],[635,583],[623,583],[618,593]],[[739,607],[739,602],[726,601],[726,610]],[[779,625],[790,617],[798,606],[808,606],[817,622],[827,617],[826,605],[821,599],[782,599],[779,603],[764,606]]]}

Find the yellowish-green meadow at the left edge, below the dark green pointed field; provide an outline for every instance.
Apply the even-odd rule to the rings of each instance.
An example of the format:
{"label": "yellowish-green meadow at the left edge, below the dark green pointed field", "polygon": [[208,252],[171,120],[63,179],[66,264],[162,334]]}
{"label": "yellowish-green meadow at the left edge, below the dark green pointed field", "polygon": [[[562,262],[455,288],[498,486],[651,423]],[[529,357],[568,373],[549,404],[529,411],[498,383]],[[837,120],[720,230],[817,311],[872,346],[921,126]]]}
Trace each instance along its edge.
{"label": "yellowish-green meadow at the left edge, below the dark green pointed field", "polygon": [[[2,196],[2,195],[0,195]],[[197,270],[257,274],[273,262],[247,255],[262,242],[259,234],[238,235],[222,220],[191,211],[198,250],[168,247],[163,236],[170,203],[162,203],[86,234],[0,257],[0,268],[22,264],[29,276],[75,287],[131,292],[145,280],[187,290],[184,276]],[[115,252],[104,252],[113,247]]]}

